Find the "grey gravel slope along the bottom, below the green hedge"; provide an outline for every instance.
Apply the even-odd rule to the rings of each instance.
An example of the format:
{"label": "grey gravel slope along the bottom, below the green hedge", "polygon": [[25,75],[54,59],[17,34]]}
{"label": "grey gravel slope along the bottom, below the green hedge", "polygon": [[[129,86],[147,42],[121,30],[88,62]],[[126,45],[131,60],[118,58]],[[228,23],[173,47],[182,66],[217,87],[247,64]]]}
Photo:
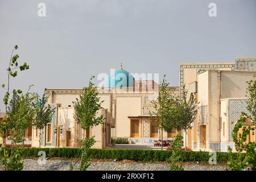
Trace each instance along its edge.
{"label": "grey gravel slope along the bottom, below the green hedge", "polygon": [[[40,165],[37,159],[24,159],[25,171],[69,171],[69,165],[72,164],[73,170],[79,170],[80,160],[60,160],[49,159],[45,165]],[[226,170],[226,164],[196,164],[196,163],[184,163],[185,170],[188,171],[222,171]],[[114,162],[114,160],[96,160],[93,159],[89,171],[166,171],[169,169],[168,163],[142,163],[133,162],[129,160],[122,160]]]}

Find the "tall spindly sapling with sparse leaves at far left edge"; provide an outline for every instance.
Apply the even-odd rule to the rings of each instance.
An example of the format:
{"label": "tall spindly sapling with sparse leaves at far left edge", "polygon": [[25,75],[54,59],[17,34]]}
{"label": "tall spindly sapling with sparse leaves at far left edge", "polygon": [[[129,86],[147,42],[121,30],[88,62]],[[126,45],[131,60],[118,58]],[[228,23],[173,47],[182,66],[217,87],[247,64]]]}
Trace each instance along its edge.
{"label": "tall spindly sapling with sparse leaves at far left edge", "polygon": [[[5,104],[5,113],[7,113],[7,106],[8,106],[9,97],[10,97],[10,78],[16,77],[18,75],[18,69],[20,71],[29,69],[29,65],[27,65],[26,62],[19,66],[18,64],[19,55],[16,54],[13,56],[14,50],[16,49],[18,49],[18,46],[14,46],[13,51],[11,51],[9,66],[7,67],[7,87],[5,84],[2,84],[2,88],[6,89],[6,93],[3,98],[3,104]],[[6,140],[6,130],[7,130],[7,115],[5,115],[5,117],[3,118],[3,123],[1,124],[1,126],[2,126],[1,133],[2,133],[3,146],[4,146],[5,140]]]}

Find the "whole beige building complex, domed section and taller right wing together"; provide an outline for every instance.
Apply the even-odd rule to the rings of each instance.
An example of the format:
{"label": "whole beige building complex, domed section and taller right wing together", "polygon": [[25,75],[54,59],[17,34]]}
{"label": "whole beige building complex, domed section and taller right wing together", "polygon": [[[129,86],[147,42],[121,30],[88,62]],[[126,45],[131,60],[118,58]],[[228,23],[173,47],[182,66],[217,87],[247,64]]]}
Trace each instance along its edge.
{"label": "whole beige building complex, domed section and taller right wing together", "polygon": [[[234,63],[180,64],[180,87],[195,93],[196,118],[187,132],[187,146],[192,150],[227,151],[233,147],[231,133],[241,111],[246,111],[246,81],[256,73],[256,58],[240,58]],[[121,85],[120,85],[121,83]],[[55,109],[52,122],[42,131],[42,147],[78,147],[84,136],[96,137],[93,148],[106,148],[111,138],[126,137],[131,143],[152,144],[160,132],[150,111],[158,97],[159,85],[154,80],[137,80],[121,68],[109,76],[104,88],[97,88],[102,104],[98,114],[105,115],[103,124],[83,131],[74,119],[73,101],[81,89],[46,89],[48,103]],[[173,87],[174,95],[182,90]],[[170,139],[176,131],[163,133]],[[33,129],[32,146],[39,146],[39,131]],[[185,136],[184,136],[185,137]],[[255,135],[251,133],[250,140]]]}

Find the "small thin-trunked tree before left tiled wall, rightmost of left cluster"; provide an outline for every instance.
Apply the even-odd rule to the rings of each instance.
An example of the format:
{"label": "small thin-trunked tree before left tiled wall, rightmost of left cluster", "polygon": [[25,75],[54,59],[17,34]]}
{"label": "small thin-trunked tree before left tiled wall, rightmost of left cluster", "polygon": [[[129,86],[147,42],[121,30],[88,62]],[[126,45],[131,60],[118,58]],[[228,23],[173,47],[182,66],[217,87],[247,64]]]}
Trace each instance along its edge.
{"label": "small thin-trunked tree before left tiled wall, rightmost of left cluster", "polygon": [[32,126],[39,130],[39,148],[41,147],[41,130],[44,129],[52,121],[53,110],[50,105],[45,105],[47,98],[43,94],[42,99],[38,98],[35,107],[35,118],[32,121]]}

